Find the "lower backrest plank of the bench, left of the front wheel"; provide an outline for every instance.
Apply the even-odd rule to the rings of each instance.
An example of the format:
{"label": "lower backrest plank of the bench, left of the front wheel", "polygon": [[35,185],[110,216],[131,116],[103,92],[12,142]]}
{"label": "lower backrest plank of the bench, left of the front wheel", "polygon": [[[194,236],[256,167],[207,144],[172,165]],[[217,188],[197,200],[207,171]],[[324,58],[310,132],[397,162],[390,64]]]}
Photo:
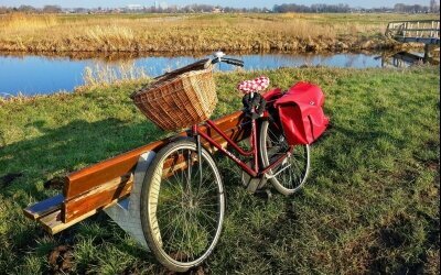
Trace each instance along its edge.
{"label": "lower backrest plank of the bench, left of the front wheel", "polygon": [[133,188],[133,174],[112,179],[86,194],[63,204],[63,222],[72,222],[94,210],[99,210],[130,194]]}

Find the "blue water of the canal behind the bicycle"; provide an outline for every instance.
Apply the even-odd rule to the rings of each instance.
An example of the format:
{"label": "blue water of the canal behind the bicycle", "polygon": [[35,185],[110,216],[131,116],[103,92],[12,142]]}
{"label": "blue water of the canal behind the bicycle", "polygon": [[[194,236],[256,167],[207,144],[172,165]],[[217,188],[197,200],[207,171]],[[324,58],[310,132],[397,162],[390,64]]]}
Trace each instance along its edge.
{"label": "blue water of the canal behind the bicycle", "polygon": [[[245,62],[245,69],[271,69],[280,67],[329,66],[344,68],[381,67],[384,63],[378,54],[248,54],[230,55]],[[84,84],[83,74],[86,66],[121,65],[142,68],[149,76],[159,76],[166,70],[182,67],[202,56],[71,56],[47,57],[40,55],[0,55],[0,97],[32,96],[53,94],[60,90],[71,91]],[[220,70],[234,67],[220,64]]]}

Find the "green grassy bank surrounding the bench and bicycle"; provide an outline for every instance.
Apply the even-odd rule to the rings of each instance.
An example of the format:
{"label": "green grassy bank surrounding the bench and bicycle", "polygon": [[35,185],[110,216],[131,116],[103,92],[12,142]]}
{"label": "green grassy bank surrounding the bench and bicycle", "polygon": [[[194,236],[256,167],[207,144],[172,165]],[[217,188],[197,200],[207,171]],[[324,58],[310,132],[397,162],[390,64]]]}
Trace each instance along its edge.
{"label": "green grassy bank surrounding the bench and bicycle", "polygon": [[[237,110],[236,84],[260,74],[283,88],[319,84],[332,127],[312,146],[310,178],[293,197],[248,195],[237,167],[217,157],[227,212],[200,272],[439,274],[439,68],[217,74],[215,117]],[[104,213],[51,237],[21,212],[58,193],[46,180],[166,134],[131,103],[137,87],[0,102],[0,271],[60,270],[49,255],[66,245],[65,272],[169,274]]]}

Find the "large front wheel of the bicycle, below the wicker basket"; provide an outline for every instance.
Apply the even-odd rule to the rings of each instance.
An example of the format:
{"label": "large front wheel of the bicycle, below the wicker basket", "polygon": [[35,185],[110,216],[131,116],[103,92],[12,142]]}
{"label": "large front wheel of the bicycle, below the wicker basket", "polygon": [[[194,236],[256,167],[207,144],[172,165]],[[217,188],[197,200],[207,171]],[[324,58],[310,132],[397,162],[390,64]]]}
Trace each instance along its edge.
{"label": "large front wheel of the bicycle, below the wicker basket", "polygon": [[184,140],[160,150],[141,190],[141,224],[157,260],[185,272],[214,250],[225,211],[224,188],[209,153]]}

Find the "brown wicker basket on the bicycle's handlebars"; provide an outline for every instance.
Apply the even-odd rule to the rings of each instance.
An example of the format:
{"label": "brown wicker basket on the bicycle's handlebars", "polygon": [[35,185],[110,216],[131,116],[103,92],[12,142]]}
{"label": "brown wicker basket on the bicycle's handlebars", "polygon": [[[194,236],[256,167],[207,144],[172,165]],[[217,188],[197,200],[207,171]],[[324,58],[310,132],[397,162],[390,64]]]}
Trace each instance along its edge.
{"label": "brown wicker basket on the bicycle's handlebars", "polygon": [[141,112],[162,130],[182,129],[207,120],[217,103],[209,59],[155,78],[131,95]]}

